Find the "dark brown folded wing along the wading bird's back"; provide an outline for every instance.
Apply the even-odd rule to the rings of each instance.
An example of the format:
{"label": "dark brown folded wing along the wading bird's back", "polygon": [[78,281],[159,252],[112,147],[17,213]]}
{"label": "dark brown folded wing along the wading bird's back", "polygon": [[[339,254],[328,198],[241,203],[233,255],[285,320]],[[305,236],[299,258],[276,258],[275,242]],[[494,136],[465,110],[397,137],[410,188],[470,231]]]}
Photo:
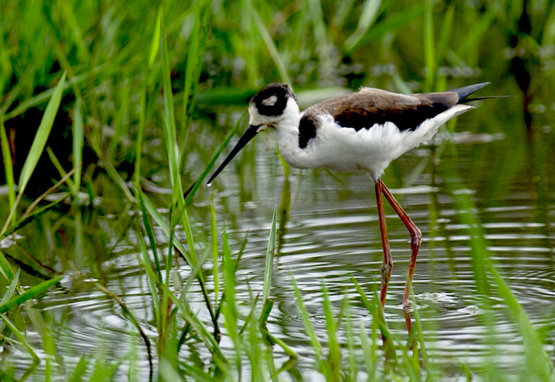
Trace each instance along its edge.
{"label": "dark brown folded wing along the wading bird's back", "polygon": [[385,122],[393,122],[401,131],[413,130],[426,119],[443,113],[458,102],[459,95],[454,91],[405,95],[364,88],[310,106],[305,110],[303,119],[304,124],[309,124],[316,115],[327,113],[339,125],[355,128],[356,131]]}

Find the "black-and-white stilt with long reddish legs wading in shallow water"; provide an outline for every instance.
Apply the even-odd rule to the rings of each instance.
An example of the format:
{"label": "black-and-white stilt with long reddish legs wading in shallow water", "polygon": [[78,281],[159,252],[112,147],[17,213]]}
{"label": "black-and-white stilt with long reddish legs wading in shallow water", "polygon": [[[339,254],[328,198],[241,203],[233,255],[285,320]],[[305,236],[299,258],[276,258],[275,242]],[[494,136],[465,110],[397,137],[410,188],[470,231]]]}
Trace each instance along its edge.
{"label": "black-and-white stilt with long reddish legs wading in shallow water", "polygon": [[[382,306],[393,266],[382,194],[411,235],[412,254],[402,300],[403,307],[407,308],[422,234],[380,177],[391,160],[432,138],[439,126],[452,117],[474,108],[468,102],[491,98],[468,98],[486,85],[487,82],[477,83],[447,92],[411,95],[362,88],[356,93],[316,103],[302,112],[289,85],[267,85],[250,100],[248,128],[208,183],[249,140],[266,128],[275,131],[282,156],[294,167],[327,167],[344,172],[366,170],[375,183],[379,230],[384,247]],[[407,328],[409,326],[410,319]]]}

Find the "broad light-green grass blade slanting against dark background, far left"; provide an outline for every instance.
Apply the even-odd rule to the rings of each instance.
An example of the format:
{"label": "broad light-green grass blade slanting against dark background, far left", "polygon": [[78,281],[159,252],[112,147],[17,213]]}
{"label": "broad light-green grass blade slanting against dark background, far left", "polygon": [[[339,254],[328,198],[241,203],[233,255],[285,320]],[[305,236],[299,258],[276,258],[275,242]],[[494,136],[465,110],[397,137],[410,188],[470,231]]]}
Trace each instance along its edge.
{"label": "broad light-green grass blade slanting against dark background, far left", "polygon": [[60,101],[62,101],[62,92],[64,90],[65,77],[66,73],[64,73],[62,75],[62,78],[60,78],[58,85],[56,85],[56,90],[54,90],[52,97],[48,105],[46,106],[46,110],[44,110],[44,115],[42,116],[42,121],[40,122],[40,126],[35,135],[35,140],[33,140],[31,149],[29,149],[29,153],[23,165],[22,172],[21,174],[19,174],[18,187],[20,194],[24,192],[29,178],[31,178],[31,174],[33,174],[33,170],[35,169],[35,166],[39,161],[42,151],[44,150],[46,140],[50,135],[50,131],[54,124],[54,118],[56,118],[58,108],[60,108]]}

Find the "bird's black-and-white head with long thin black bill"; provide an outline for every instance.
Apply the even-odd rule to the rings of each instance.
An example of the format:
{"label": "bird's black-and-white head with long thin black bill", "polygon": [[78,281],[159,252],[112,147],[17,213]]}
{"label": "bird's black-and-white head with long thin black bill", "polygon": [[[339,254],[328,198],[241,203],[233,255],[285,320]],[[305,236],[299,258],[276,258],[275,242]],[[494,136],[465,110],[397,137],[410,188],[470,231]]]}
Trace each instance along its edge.
{"label": "bird's black-and-white head with long thin black bill", "polygon": [[221,170],[230,163],[230,160],[239,153],[248,141],[255,138],[259,131],[268,127],[275,128],[284,119],[291,117],[291,115],[298,115],[298,113],[297,99],[287,83],[271,83],[262,88],[250,99],[248,104],[248,128],[223,160],[220,167],[210,176],[208,184],[212,183]]}

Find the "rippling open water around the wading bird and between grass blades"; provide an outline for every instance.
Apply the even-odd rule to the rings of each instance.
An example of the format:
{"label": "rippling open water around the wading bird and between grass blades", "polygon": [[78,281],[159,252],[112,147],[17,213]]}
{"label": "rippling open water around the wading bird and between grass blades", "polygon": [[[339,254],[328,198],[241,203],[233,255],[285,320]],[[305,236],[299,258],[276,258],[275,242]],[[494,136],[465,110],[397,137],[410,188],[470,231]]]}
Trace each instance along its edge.
{"label": "rippling open water around the wading bird and between grass blades", "polygon": [[[473,213],[481,222],[497,270],[536,329],[554,333],[555,192],[553,178],[547,174],[555,172],[555,158],[546,147],[553,147],[555,142],[547,134],[527,141],[509,133],[474,133],[470,130],[475,130],[479,122],[472,118],[481,113],[461,119],[458,133],[451,138],[454,146],[447,144],[445,148],[440,140],[437,146],[413,150],[395,161],[384,176],[385,183],[422,230],[413,290],[429,356],[434,363],[445,366],[445,376],[451,379],[459,378],[461,364],[481,367],[490,353],[484,341],[487,329],[479,319],[481,297],[472,272],[468,226],[459,218],[453,195],[470,195],[476,206]],[[343,297],[348,297],[355,327],[363,322],[368,328],[371,317],[360,302],[352,277],[369,297],[379,289],[383,254],[375,196],[373,184],[364,173],[292,169],[289,182],[286,181],[271,135],[269,138],[257,140],[255,149],[251,145],[250,150],[257,156],[256,176],[244,174],[238,178],[231,166],[219,177],[215,190],[217,217],[220,225],[223,219],[228,222],[233,251],[248,235],[237,272],[237,300],[250,301],[251,291],[256,294],[262,290],[271,214],[278,204],[280,229],[271,288],[275,306],[268,329],[298,352],[300,358],[293,368],[308,378],[314,376],[310,371],[314,354],[293,298],[291,278],[302,292],[318,338],[327,338],[322,285],[329,290],[336,312]],[[461,187],[453,189],[453,179]],[[197,210],[205,216],[202,211],[212,189],[195,197],[197,204],[191,215]],[[388,206],[386,215],[394,266],[385,315],[393,333],[406,341],[400,304],[410,256],[409,234]],[[202,219],[195,228],[210,230]],[[160,233],[160,242],[165,242],[163,238]],[[148,284],[135,257],[137,238],[131,231],[123,240],[111,240],[115,240],[114,251],[99,264],[100,275],[87,269],[87,265],[80,269],[84,275],[96,274],[97,279],[85,276],[85,281],[78,281],[67,276],[63,288],[53,290],[40,301],[39,307],[56,323],[53,335],[57,351],[69,369],[78,362],[77,354],[105,354],[108,359],[118,359],[133,351],[137,353],[137,364],[148,369],[136,329],[114,300],[94,285],[99,281],[117,294],[155,342],[157,330],[148,302]],[[179,273],[184,277],[189,274],[182,262]],[[207,282],[212,292],[211,276]],[[209,322],[197,288],[192,287],[189,301]],[[246,303],[239,306],[245,315],[249,308]],[[495,363],[504,370],[522,369],[518,328],[507,315],[503,301],[493,299],[490,309],[496,342],[503,344],[497,349],[502,356]],[[339,329],[339,339],[345,345],[344,326]],[[29,340],[40,349],[36,333],[29,333]],[[222,345],[228,351],[232,349],[225,336]],[[547,351],[554,351],[553,346],[547,345]],[[183,354],[191,357],[194,351],[185,347]],[[26,354],[14,356],[19,367],[28,367]],[[206,356],[200,354],[200,358]],[[276,363],[287,360],[278,349],[275,357]]]}

